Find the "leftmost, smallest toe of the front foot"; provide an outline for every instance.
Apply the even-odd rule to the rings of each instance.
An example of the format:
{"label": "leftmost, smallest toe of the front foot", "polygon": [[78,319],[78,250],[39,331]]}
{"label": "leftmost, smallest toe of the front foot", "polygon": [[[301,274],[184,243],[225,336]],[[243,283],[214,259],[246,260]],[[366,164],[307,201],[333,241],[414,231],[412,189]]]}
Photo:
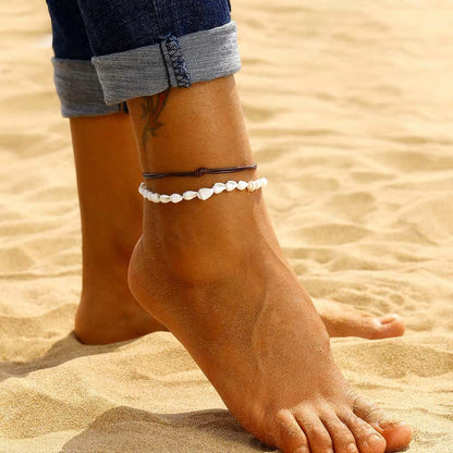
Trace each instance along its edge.
{"label": "leftmost, smallest toe of the front foot", "polygon": [[276,416],[278,446],[284,453],[308,453],[308,442],[290,411],[279,411]]}

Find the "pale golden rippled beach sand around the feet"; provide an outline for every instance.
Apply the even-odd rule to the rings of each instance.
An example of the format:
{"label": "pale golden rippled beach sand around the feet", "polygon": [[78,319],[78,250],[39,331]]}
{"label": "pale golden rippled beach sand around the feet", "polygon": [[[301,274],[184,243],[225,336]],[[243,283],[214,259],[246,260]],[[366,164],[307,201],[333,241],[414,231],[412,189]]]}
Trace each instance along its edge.
{"label": "pale golden rippled beach sand around the feet", "polygon": [[[0,14],[0,451],[276,451],[170,333],[81,345],[81,231],[44,0]],[[402,339],[333,341],[347,379],[453,452],[453,3],[233,2],[266,198],[315,299],[399,313]],[[137,195],[138,196],[138,195]]]}

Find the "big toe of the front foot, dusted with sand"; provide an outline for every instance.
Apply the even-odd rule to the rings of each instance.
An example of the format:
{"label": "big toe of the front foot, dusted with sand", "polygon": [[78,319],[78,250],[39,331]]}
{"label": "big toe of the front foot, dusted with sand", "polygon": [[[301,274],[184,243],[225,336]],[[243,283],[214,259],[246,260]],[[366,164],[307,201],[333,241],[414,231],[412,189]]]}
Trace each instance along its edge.
{"label": "big toe of the front foot, dusted with sand", "polygon": [[394,452],[405,449],[412,441],[412,428],[403,421],[393,421],[378,406],[358,400],[354,413],[363,420],[370,424],[387,442],[385,452]]}

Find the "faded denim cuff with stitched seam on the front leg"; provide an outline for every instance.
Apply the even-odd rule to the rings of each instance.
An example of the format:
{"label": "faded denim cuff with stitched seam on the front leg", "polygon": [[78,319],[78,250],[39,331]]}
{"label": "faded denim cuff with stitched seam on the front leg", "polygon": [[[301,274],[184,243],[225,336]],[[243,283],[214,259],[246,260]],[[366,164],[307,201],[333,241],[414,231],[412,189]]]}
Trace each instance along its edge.
{"label": "faded denim cuff with stitched seam on the front leg", "polygon": [[91,61],[109,106],[151,96],[169,86],[188,87],[241,69],[233,21],[177,38],[161,36],[159,44],[93,57]]}

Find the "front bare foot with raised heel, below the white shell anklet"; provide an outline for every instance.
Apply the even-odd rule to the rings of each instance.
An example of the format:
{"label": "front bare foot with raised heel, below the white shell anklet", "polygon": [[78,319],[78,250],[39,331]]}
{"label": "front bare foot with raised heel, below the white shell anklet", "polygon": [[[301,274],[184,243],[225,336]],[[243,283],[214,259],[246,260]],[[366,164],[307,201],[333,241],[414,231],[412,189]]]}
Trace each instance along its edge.
{"label": "front bare foot with raised heel, below the white shell anklet", "polygon": [[132,293],[245,429],[284,453],[383,453],[409,443],[407,425],[389,423],[344,380],[258,192],[147,203],[144,215]]}

